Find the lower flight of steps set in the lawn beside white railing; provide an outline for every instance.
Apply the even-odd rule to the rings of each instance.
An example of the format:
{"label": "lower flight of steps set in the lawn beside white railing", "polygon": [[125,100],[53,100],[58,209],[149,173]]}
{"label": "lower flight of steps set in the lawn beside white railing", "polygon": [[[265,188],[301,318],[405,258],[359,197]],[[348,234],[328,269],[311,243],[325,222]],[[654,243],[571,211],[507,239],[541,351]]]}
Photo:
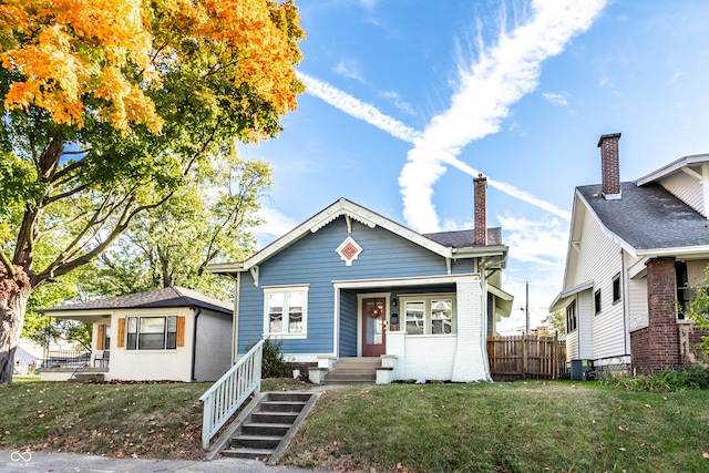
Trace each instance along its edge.
{"label": "lower flight of steps set in the lawn beside white railing", "polygon": [[[270,460],[280,455],[288,446],[317,395],[314,392],[266,392],[259,394],[227,430],[225,448],[220,453],[237,459]],[[224,436],[224,435],[223,435]],[[217,441],[219,443],[219,441]]]}

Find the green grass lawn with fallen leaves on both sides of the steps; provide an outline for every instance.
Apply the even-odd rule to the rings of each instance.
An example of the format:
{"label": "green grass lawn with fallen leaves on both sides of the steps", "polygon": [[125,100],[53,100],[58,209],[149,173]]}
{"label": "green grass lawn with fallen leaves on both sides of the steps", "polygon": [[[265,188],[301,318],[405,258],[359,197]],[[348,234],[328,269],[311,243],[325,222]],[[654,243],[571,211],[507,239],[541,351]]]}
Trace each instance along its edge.
{"label": "green grass lawn with fallen leaves on both sides of the steps", "polygon": [[[198,398],[207,388],[14,382],[0,388],[0,448],[198,459]],[[302,384],[264,385],[292,388]],[[707,472],[707,452],[706,390],[390,384],[323,393],[281,463],[399,473]]]}

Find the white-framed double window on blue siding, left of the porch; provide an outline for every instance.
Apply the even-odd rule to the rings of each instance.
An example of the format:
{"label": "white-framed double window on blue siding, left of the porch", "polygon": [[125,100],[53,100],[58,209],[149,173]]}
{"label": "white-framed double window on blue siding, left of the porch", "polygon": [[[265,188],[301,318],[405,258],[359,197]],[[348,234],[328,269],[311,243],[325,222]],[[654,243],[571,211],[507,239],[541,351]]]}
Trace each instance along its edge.
{"label": "white-framed double window on blue siding, left of the porch", "polygon": [[267,336],[305,338],[307,319],[307,286],[264,289],[264,332]]}

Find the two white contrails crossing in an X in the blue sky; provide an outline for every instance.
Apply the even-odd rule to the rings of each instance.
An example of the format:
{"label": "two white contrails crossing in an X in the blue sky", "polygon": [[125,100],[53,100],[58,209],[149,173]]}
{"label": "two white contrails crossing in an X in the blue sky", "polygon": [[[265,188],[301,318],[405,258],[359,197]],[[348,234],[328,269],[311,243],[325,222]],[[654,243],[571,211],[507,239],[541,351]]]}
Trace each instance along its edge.
{"label": "two white contrails crossing in an X in the blue sky", "polygon": [[[542,62],[561,53],[574,35],[590,28],[605,4],[606,0],[533,1],[530,21],[510,33],[503,32],[496,45],[481,48],[476,62],[459,64],[458,89],[449,109],[434,116],[423,132],[302,72],[298,76],[307,93],[413,144],[399,176],[403,215],[419,232],[438,232],[432,195],[434,184],[446,171],[444,164],[476,176],[473,167],[458,160],[462,148],[500,130],[508,107],[536,88]],[[515,186],[491,178],[487,184],[561,218],[571,218],[567,210]]]}

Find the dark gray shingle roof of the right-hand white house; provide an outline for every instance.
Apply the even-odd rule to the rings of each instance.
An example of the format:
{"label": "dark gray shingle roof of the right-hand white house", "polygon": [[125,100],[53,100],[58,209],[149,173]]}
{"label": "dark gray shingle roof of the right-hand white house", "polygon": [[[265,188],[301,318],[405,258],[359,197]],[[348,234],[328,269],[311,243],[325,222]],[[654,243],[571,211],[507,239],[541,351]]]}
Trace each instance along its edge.
{"label": "dark gray shingle roof of the right-hand white house", "polygon": [[621,183],[621,198],[606,200],[600,184],[576,188],[603,225],[635,249],[709,245],[709,220],[656,183]]}

